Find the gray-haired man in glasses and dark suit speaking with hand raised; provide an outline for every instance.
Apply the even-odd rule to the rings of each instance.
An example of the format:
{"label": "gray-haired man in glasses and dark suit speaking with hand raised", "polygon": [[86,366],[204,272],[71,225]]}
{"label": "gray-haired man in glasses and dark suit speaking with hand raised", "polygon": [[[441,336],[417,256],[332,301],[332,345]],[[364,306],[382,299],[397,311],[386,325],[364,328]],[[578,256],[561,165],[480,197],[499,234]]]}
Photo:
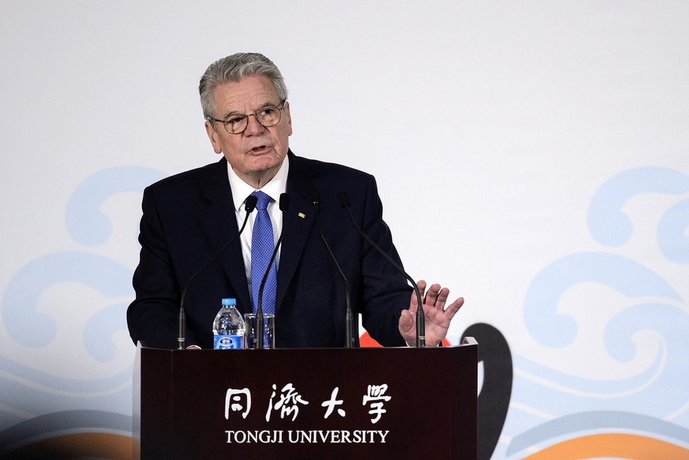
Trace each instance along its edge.
{"label": "gray-haired man in glasses and dark suit speaking with hand raised", "polygon": [[[261,238],[269,240],[272,249],[284,228],[278,258],[270,268],[273,281],[263,300],[264,308],[275,312],[276,346],[343,346],[346,296],[314,223],[315,211],[308,199],[314,189],[320,192],[322,232],[350,283],[352,307],[362,315],[365,329],[384,346],[415,343],[416,296],[404,276],[355,232],[337,199],[341,191],[347,192],[360,228],[399,262],[382,220],[375,179],[290,151],[287,88],[277,67],[261,54],[234,54],[211,64],[201,77],[199,92],[208,138],[223,158],[144,191],[141,259],[134,273],[136,300],[127,310],[134,343],[177,348],[181,291],[237,234],[245,220],[245,202],[253,194],[259,196],[257,211],[261,200],[266,202],[265,217],[252,213],[240,242],[229,247],[187,292],[187,345],[212,348],[211,326],[223,297],[234,297],[242,313],[255,310],[267,264],[257,267],[254,260],[252,267],[252,247],[259,246],[252,237],[267,231],[269,236]],[[290,206],[283,223],[277,202],[285,192]],[[262,220],[260,230],[254,219]],[[423,295],[426,283],[420,281],[418,287]],[[440,285],[425,292],[428,346],[442,341],[464,302],[460,297],[446,308],[448,295]]]}

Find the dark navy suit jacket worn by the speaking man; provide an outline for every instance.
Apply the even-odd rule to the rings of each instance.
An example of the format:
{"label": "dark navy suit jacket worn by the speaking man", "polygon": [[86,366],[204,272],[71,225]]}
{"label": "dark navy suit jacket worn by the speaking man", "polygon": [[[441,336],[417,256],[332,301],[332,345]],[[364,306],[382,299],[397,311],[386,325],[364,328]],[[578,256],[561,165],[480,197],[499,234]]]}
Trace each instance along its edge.
{"label": "dark navy suit jacket worn by the speaking man", "polygon": [[[349,282],[353,309],[362,314],[365,329],[379,343],[404,346],[398,319],[408,308],[411,287],[363,241],[337,199],[341,191],[347,192],[360,228],[399,262],[382,220],[374,177],[299,158],[291,151],[288,155],[290,206],[278,265],[276,346],[320,348],[345,343],[346,297],[307,199],[313,189],[320,192],[322,230]],[[144,191],[141,259],[133,281],[136,300],[127,309],[134,343],[177,348],[184,285],[239,231],[231,193],[225,158],[163,179]],[[212,323],[223,297],[235,297],[242,314],[251,311],[241,251],[237,240],[187,292],[187,346],[213,348]]]}

